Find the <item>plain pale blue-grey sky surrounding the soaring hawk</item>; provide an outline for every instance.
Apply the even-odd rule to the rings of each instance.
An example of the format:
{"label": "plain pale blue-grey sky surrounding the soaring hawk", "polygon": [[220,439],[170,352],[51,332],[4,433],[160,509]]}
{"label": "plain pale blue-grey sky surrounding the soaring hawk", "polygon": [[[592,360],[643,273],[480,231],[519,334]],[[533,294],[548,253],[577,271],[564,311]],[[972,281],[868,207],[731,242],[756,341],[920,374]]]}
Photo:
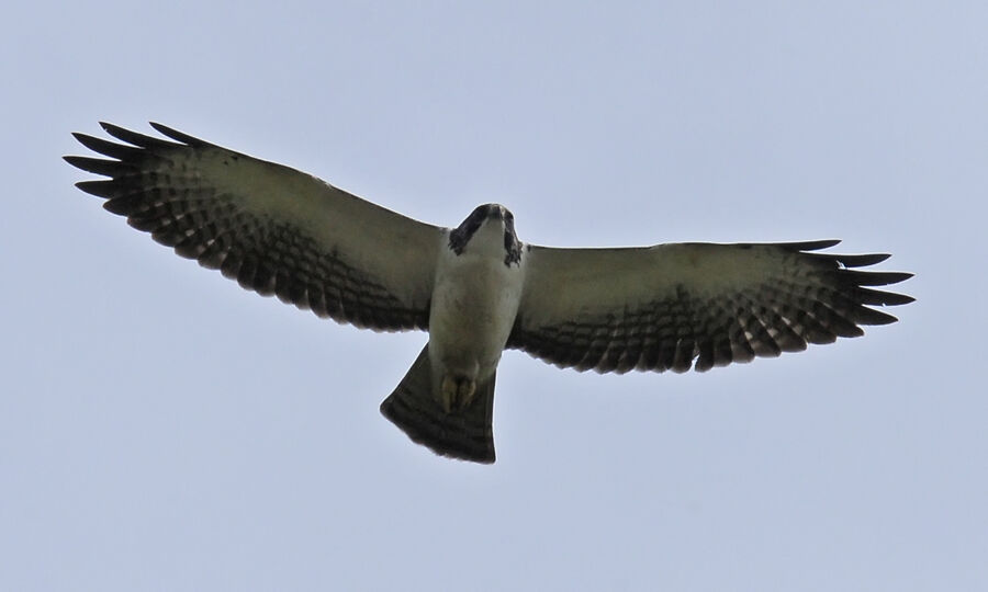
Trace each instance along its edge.
{"label": "plain pale blue-grey sky surrounding the soaring hawk", "polygon": [[[0,24],[0,589],[988,589],[983,2],[34,2]],[[840,238],[900,322],[706,374],[510,351],[497,463],[379,411],[426,342],[134,231],[157,121],[524,241]]]}

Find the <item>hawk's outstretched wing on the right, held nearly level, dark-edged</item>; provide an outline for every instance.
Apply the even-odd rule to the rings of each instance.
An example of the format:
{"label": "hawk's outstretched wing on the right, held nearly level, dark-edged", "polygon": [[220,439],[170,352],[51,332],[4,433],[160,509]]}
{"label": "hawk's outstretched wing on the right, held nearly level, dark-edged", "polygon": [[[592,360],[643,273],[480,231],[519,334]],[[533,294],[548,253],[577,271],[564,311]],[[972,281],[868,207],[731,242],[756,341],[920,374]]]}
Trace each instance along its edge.
{"label": "hawk's outstretched wing on the right, held nearly level, dark-edged", "polygon": [[868,306],[912,298],[864,286],[911,274],[852,269],[887,254],[808,252],[838,242],[531,247],[507,346],[580,371],[686,372],[696,360],[703,372],[895,322]]}

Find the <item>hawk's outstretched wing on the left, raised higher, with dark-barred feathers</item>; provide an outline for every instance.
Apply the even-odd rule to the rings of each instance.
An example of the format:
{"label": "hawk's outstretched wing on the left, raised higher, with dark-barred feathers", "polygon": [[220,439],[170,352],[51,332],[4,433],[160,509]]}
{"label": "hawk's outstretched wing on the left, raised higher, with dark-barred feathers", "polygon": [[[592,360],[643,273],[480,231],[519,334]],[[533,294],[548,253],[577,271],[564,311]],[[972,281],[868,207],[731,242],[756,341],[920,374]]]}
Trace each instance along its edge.
{"label": "hawk's outstretched wing on the left, raised higher, with dark-barred feathers", "polygon": [[178,254],[263,296],[374,330],[426,329],[441,229],[315,177],[187,136],[101,124],[74,134],[110,157],[65,157],[108,177],[77,186]]}

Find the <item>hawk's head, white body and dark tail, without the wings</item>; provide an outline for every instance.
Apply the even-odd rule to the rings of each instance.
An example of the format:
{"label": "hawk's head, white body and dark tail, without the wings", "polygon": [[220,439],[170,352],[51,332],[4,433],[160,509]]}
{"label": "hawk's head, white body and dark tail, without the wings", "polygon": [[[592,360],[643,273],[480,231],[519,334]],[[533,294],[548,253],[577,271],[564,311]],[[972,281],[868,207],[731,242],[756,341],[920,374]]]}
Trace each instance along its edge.
{"label": "hawk's head, white body and dark tail, without the wings", "polygon": [[[439,251],[429,342],[381,412],[440,454],[494,462],[494,383],[525,282],[510,213],[479,206]],[[447,236],[444,238],[446,239]],[[506,257],[506,243],[517,257]]]}

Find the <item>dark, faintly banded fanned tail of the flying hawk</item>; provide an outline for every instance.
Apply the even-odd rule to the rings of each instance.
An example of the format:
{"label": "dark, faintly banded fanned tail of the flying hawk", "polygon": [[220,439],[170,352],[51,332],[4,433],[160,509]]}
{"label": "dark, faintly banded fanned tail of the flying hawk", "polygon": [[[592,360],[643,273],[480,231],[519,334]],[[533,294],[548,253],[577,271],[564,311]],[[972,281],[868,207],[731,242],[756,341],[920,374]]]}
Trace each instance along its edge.
{"label": "dark, faintly banded fanned tail of the flying hawk", "polygon": [[476,386],[469,407],[447,413],[433,395],[431,374],[426,344],[394,392],[381,403],[381,413],[413,442],[436,454],[493,463],[494,376]]}

